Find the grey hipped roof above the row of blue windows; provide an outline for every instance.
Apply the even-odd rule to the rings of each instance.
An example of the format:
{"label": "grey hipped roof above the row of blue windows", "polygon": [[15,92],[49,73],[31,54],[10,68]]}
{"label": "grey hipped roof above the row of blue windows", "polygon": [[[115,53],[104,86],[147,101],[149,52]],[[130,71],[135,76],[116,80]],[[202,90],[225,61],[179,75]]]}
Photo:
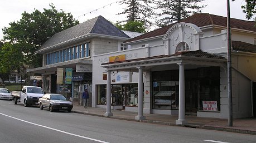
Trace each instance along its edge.
{"label": "grey hipped roof above the row of blue windows", "polygon": [[80,23],[76,26],[70,27],[56,33],[52,36],[48,41],[42,45],[39,50],[42,50],[47,47],[55,46],[62,42],[66,42],[69,40],[75,40],[76,38],[86,36],[86,34],[104,34],[108,36],[116,36],[123,38],[130,38],[123,31],[120,31],[117,27],[115,27],[112,23],[107,21],[102,16],[95,17],[83,23]]}

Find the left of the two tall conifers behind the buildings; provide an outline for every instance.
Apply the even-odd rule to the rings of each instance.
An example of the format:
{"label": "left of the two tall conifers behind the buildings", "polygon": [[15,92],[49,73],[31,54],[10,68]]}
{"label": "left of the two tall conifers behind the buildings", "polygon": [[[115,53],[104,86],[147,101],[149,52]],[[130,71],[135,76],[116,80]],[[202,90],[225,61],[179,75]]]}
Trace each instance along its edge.
{"label": "left of the two tall conifers behind the buildings", "polygon": [[118,23],[129,21],[142,21],[147,28],[153,25],[150,19],[155,14],[153,11],[153,7],[151,6],[154,3],[154,0],[123,0],[119,3],[127,4],[128,7],[124,8],[123,12],[118,13],[118,15],[127,14],[127,19]]}

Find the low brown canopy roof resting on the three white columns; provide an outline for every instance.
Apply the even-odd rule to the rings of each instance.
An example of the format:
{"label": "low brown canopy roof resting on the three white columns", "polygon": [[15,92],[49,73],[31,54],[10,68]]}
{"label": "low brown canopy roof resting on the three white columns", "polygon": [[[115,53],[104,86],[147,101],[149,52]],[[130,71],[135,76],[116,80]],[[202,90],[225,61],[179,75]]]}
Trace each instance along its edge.
{"label": "low brown canopy roof resting on the three white columns", "polygon": [[153,56],[153,57],[146,57],[146,58],[136,58],[136,59],[126,60],[126,61],[108,62],[108,63],[102,63],[102,65],[109,65],[109,64],[113,64],[113,63],[122,63],[122,62],[131,62],[131,61],[149,60],[149,59],[156,59],[156,58],[174,57],[174,56],[178,56],[178,55],[215,58],[215,59],[219,59],[219,60],[225,59],[225,57],[222,57],[222,56],[214,55],[212,53],[203,52],[202,50],[196,50],[196,51],[187,51],[187,52],[177,52],[172,55],[160,55],[160,56]]}

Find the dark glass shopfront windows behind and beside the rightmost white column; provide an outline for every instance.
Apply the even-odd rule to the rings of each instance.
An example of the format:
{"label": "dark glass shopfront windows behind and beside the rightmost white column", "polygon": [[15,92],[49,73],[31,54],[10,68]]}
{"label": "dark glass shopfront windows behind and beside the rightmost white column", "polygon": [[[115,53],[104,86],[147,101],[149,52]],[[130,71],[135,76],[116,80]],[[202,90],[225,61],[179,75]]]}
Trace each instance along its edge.
{"label": "dark glass shopfront windows behind and beside the rightmost white column", "polygon": [[[178,110],[178,70],[152,72],[152,103],[155,110]],[[216,109],[205,109],[205,101],[214,102]],[[212,105],[209,105],[212,106]],[[185,112],[220,112],[220,68],[201,67],[185,70]]]}

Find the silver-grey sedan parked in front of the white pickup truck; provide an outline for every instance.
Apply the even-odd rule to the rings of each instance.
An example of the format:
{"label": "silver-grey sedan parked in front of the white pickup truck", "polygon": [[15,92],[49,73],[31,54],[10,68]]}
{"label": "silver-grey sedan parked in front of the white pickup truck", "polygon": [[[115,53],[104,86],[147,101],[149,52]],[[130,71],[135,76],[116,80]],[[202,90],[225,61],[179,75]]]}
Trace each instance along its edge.
{"label": "silver-grey sedan parked in front of the white pickup truck", "polygon": [[54,110],[66,110],[71,112],[73,109],[73,103],[68,101],[66,97],[55,93],[46,93],[42,98],[39,98],[38,103],[40,109],[47,108],[50,112]]}

